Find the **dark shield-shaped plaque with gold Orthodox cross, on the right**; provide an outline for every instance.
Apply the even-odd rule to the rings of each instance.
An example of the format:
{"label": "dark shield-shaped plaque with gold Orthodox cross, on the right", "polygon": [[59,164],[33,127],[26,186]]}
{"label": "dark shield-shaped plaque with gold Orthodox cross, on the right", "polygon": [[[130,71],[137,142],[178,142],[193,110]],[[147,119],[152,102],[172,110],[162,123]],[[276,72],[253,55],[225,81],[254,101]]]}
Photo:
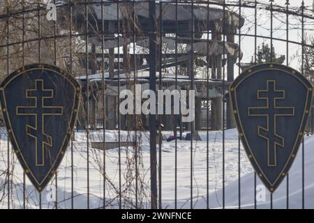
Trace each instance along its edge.
{"label": "dark shield-shaped plaque with gold Orthodox cross, on the right", "polygon": [[297,70],[268,63],[244,71],[230,86],[239,136],[270,192],[297,155],[311,111],[312,88]]}

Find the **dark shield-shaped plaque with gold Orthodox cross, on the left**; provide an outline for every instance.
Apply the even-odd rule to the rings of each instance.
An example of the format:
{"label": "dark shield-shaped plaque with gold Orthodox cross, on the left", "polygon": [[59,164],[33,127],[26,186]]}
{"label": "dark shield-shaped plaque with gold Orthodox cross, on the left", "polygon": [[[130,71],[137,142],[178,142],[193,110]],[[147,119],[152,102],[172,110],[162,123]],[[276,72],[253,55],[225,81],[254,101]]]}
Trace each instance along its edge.
{"label": "dark shield-shaped plaque with gold Orthodox cross, on the left", "polygon": [[66,152],[80,102],[80,84],[55,66],[32,64],[0,86],[1,112],[18,160],[38,192]]}

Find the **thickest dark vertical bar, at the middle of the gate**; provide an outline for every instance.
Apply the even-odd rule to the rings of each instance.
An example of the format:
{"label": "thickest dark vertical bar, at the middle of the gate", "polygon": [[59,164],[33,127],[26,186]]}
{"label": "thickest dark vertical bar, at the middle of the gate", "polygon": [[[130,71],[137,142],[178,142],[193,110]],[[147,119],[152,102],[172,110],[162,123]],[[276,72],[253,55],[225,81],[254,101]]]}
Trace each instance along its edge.
{"label": "thickest dark vertical bar, at the middle of the gate", "polygon": [[[149,1],[149,89],[156,92],[156,2]],[[157,208],[156,114],[149,114],[151,208]]]}

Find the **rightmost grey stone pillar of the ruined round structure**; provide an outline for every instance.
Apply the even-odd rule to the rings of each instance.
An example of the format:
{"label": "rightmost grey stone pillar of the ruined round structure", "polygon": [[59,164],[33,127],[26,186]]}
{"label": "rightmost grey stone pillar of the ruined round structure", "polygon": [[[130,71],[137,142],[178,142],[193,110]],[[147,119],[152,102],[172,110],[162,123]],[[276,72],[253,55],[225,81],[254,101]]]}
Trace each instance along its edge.
{"label": "rightmost grey stone pillar of the ruined round structure", "polygon": [[[235,29],[229,27],[230,31],[227,31],[227,33],[230,33],[227,35],[227,41],[230,43],[234,43],[234,33]],[[237,56],[228,55],[227,56],[227,81],[233,82],[234,80],[234,63],[237,61]],[[236,128],[236,123],[234,119],[234,115],[232,112],[232,105],[230,102],[230,95],[227,98],[227,128]]]}

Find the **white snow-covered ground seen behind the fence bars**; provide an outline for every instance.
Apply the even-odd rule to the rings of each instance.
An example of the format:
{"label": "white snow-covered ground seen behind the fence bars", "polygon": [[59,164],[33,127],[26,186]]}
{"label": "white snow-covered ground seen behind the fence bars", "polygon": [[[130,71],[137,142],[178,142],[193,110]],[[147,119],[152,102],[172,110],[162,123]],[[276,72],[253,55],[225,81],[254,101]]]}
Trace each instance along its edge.
{"label": "white snow-covered ground seen behind the fence bars", "polygon": [[[7,167],[7,140],[4,130],[1,130],[0,141],[0,174]],[[117,141],[117,131],[105,132],[107,141]],[[121,181],[119,180],[119,150],[112,149],[105,153],[105,202],[107,208],[118,208],[119,182],[121,182],[122,208],[134,208],[135,192],[137,191],[138,205],[149,208],[149,139],[147,132],[138,135],[141,141],[140,156],[137,158],[139,178],[137,190],[135,187],[135,151],[134,148],[121,148]],[[169,134],[166,134],[167,136]],[[101,141],[103,132],[91,132],[90,141]],[[200,133],[202,141],[193,141],[193,206],[207,207],[207,134]],[[223,205],[223,139],[222,132],[209,133],[209,207],[221,208]],[[121,141],[133,138],[133,132],[121,132]],[[239,139],[237,130],[225,131],[225,207],[238,208],[239,185],[239,152],[241,171],[241,208],[254,208],[254,174],[251,164],[246,158],[243,146],[238,150]],[[314,137],[305,137],[305,204],[306,208],[314,208]],[[174,208],[175,192],[175,142],[163,141],[161,153],[162,201],[163,208]],[[74,208],[87,208],[87,136],[84,132],[75,132],[73,141],[73,157],[68,148],[57,176],[58,208],[71,208],[71,160],[73,158],[73,203]],[[190,141],[177,141],[177,207],[190,208]],[[22,208],[23,205],[23,174],[13,153],[10,169],[13,171],[13,185],[10,194],[11,208]],[[89,148],[89,206],[103,207],[103,151]],[[0,176],[0,185],[5,178]],[[262,185],[257,178],[257,185]],[[290,208],[301,208],[301,150],[290,170]],[[54,208],[54,202],[49,201],[54,194],[55,180],[52,180],[52,190],[42,194],[42,207]],[[7,208],[7,188],[0,187],[0,208]],[[26,180],[27,208],[38,208],[38,192],[33,189],[30,181]],[[48,199],[47,199],[48,198]],[[285,208],[286,181],[274,194],[274,208]],[[269,208],[269,192],[266,200],[258,201],[257,208]]]}

